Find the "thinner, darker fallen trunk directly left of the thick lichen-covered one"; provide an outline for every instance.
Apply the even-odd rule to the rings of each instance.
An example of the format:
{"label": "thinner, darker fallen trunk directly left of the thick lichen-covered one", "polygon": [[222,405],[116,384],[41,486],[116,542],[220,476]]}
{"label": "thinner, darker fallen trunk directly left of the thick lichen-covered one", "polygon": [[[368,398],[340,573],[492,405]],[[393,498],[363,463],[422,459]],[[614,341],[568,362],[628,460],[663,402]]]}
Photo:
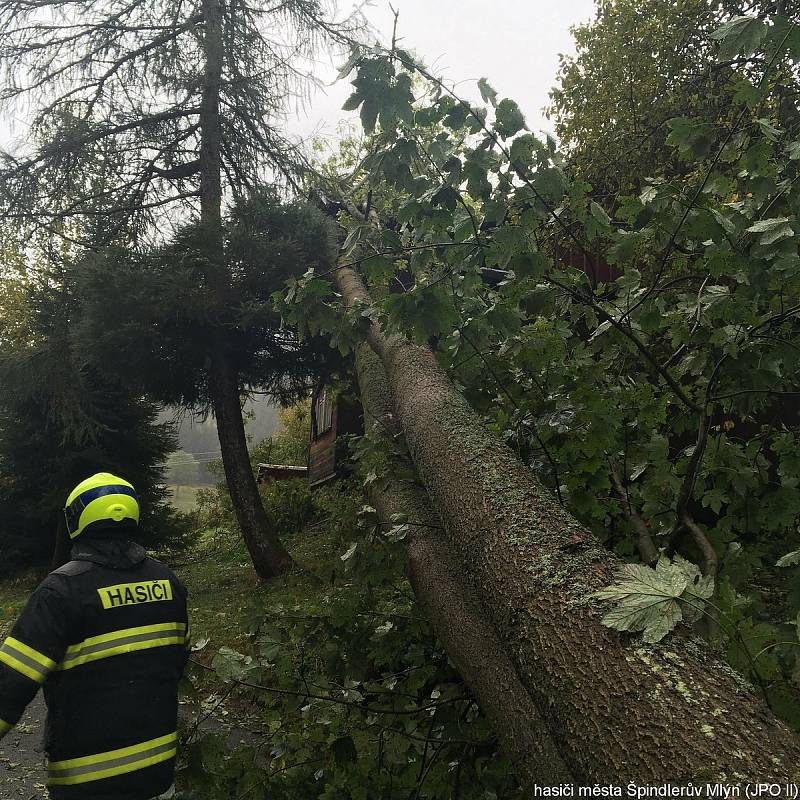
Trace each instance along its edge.
{"label": "thinner, darker fallen trunk directly left of the thick lichen-covered one", "polygon": [[[383,364],[364,344],[356,353],[356,367],[365,428],[372,428],[374,436],[393,438],[399,426],[391,413]],[[390,475],[392,466],[387,464]],[[571,783],[572,775],[479,598],[461,579],[463,568],[444,541],[441,520],[425,490],[416,483],[389,478],[385,484],[373,483],[370,499],[382,523],[390,525],[395,514],[413,521],[407,542],[414,594],[514,764],[523,788],[530,794],[535,785]]]}

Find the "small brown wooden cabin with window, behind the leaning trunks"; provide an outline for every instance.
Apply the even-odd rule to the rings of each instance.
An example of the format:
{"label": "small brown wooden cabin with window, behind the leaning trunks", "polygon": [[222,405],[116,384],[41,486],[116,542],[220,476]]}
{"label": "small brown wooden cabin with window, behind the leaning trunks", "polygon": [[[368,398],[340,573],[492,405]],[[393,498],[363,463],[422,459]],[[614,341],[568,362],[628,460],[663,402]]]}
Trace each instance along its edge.
{"label": "small brown wooden cabin with window, behind the leaning trunks", "polygon": [[364,417],[356,398],[334,398],[330,389],[315,392],[311,403],[308,485],[313,488],[344,474],[347,452],[342,437],[363,433]]}

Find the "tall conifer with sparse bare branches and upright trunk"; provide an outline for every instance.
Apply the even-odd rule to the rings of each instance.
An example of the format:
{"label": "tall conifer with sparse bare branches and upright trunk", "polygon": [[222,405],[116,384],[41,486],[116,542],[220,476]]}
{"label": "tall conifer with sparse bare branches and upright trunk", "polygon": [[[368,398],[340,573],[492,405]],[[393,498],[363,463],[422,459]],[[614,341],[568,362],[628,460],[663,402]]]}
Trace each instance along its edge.
{"label": "tall conifer with sparse bare branches and upright trunk", "polygon": [[237,518],[262,577],[291,559],[266,530],[242,387],[221,333],[229,324],[222,205],[226,194],[242,197],[267,177],[294,181],[298,154],[276,130],[275,113],[303,90],[304,59],[353,27],[333,20],[323,0],[0,3],[2,98],[35,98],[37,143],[4,156],[0,214],[55,233],[81,217],[81,243],[97,247],[161,238],[199,211],[220,331],[208,353],[211,405]]}

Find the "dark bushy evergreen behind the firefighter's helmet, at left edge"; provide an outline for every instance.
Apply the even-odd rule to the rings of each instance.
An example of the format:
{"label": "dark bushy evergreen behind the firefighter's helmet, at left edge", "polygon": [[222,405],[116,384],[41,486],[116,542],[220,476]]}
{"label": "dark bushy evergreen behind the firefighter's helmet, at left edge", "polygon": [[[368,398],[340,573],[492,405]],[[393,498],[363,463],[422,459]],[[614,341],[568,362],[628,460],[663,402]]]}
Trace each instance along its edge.
{"label": "dark bushy evergreen behind the firefighter's helmet, at left edge", "polygon": [[[71,338],[80,317],[69,262],[27,282],[4,283],[0,301],[0,561],[52,557],[69,492],[94,472],[129,480],[141,497],[142,539],[177,541],[161,470],[175,447],[158,406],[97,364]],[[6,305],[6,301],[9,303]],[[6,314],[5,312],[9,313]],[[24,312],[21,316],[19,312]]]}

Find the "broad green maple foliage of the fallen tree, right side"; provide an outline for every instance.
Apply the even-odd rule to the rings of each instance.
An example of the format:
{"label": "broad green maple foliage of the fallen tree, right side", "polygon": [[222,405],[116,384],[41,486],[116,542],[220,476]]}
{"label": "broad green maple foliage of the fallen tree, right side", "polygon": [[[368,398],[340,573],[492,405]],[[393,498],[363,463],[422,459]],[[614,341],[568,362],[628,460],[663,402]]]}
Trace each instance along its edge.
{"label": "broad green maple foliage of the fallen tree, right side", "polygon": [[[776,567],[800,515],[797,160],[769,104],[793,31],[775,13],[718,27],[720,57],[747,57],[730,113],[670,120],[675,171],[626,187],[609,211],[485,81],[485,106],[471,107],[410,54],[362,49],[348,106],[370,138],[327,188],[345,208],[343,260],[378,298],[341,311],[335,341],[354,346],[380,322],[427,342],[607,547],[698,564],[702,591],[713,583],[710,635],[797,724],[797,647],[781,642],[800,609]],[[330,320],[339,299],[324,281],[293,282],[299,324]],[[683,562],[668,563],[658,569],[678,580]],[[623,605],[607,622],[662,638],[680,615],[633,613],[642,585],[612,592]],[[759,586],[781,587],[768,614]]]}

